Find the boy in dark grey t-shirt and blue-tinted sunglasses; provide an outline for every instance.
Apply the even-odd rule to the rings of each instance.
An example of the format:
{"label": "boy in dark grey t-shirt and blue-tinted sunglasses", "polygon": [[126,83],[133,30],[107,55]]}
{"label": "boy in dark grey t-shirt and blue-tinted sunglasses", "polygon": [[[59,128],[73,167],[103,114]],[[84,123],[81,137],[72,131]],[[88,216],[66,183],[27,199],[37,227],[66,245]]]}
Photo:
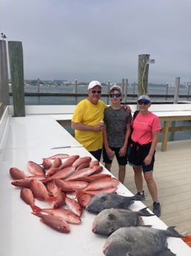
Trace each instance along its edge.
{"label": "boy in dark grey t-shirt and blue-tinted sunglasses", "polygon": [[111,105],[104,111],[103,160],[107,170],[111,170],[113,157],[118,161],[118,180],[124,183],[127,165],[127,144],[130,137],[131,114],[121,106],[122,91],[117,85],[109,91]]}

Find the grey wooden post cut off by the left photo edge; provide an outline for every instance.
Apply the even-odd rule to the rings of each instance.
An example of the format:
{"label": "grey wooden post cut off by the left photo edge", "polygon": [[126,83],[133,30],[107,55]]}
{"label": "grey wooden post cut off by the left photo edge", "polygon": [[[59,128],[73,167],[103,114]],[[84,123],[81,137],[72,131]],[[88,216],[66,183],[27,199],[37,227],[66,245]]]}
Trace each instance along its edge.
{"label": "grey wooden post cut off by the left photo edge", "polygon": [[7,70],[7,47],[6,41],[0,40],[0,103],[10,104],[8,70]]}

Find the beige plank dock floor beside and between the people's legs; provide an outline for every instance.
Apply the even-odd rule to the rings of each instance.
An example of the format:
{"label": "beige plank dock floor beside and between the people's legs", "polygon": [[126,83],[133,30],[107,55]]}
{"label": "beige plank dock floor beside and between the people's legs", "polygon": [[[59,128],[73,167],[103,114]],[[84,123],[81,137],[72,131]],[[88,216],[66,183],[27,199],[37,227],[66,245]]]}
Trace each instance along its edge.
{"label": "beige plank dock floor beside and between the people's legs", "polygon": [[[168,150],[161,151],[158,143],[155,154],[154,177],[161,203],[161,220],[167,226],[176,226],[178,232],[191,234],[191,140],[168,142]],[[113,161],[112,172],[118,177],[118,164]],[[124,181],[136,193],[133,169],[127,165]],[[144,183],[146,198],[143,203],[152,210],[150,193]]]}

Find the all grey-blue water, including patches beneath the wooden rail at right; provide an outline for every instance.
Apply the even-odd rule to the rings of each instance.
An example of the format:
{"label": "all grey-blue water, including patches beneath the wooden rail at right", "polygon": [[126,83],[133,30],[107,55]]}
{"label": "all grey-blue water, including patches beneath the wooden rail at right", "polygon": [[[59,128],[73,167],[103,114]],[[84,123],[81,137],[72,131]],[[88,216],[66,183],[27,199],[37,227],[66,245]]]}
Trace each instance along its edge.
{"label": "all grey-blue water, including patches beneath the wooden rail at right", "polygon": [[[44,92],[44,93],[74,93],[75,92],[75,85],[64,85],[64,86],[36,86],[36,85],[25,85],[24,91],[25,92],[33,92],[37,93]],[[164,95],[170,95],[175,93],[175,88],[171,87],[168,88],[166,85],[148,85],[148,93],[150,94],[164,94]],[[11,91],[11,87],[10,87]],[[103,86],[102,92],[107,93],[108,87],[107,85]],[[87,85],[78,85],[77,86],[77,92],[78,93],[86,93],[87,92]],[[185,86],[181,86],[179,88],[178,94],[179,95],[188,95],[188,88]],[[138,88],[135,86],[128,86],[127,87],[127,93],[130,94],[136,94],[138,93]],[[81,101],[81,99],[84,99],[84,96],[25,96],[24,102],[25,105],[76,105],[78,102]],[[108,104],[108,97],[101,96],[101,99]],[[154,98],[153,100],[162,100],[165,102],[165,100],[173,101],[172,97],[161,97],[161,98]],[[127,97],[128,100],[136,100],[135,97]],[[189,97],[179,98],[178,100],[191,100],[191,95]],[[13,104],[12,96],[10,96],[10,104]],[[176,122],[176,126],[179,125],[191,125],[191,121],[181,121]],[[73,133],[70,127],[67,128],[67,131],[70,133]],[[161,135],[159,137],[159,142],[161,142]],[[174,140],[191,140],[191,130],[188,131],[176,131],[174,133],[169,133],[168,141],[174,141]]]}

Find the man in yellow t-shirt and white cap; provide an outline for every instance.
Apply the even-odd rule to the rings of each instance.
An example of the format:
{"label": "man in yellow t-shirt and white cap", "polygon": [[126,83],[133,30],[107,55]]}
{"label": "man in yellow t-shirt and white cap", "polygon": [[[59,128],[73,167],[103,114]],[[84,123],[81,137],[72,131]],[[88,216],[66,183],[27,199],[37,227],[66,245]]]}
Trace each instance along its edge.
{"label": "man in yellow t-shirt and white cap", "polygon": [[107,105],[100,100],[101,83],[93,80],[88,85],[87,99],[82,99],[76,105],[71,127],[75,130],[75,137],[90,154],[100,161],[103,148],[104,109]]}

